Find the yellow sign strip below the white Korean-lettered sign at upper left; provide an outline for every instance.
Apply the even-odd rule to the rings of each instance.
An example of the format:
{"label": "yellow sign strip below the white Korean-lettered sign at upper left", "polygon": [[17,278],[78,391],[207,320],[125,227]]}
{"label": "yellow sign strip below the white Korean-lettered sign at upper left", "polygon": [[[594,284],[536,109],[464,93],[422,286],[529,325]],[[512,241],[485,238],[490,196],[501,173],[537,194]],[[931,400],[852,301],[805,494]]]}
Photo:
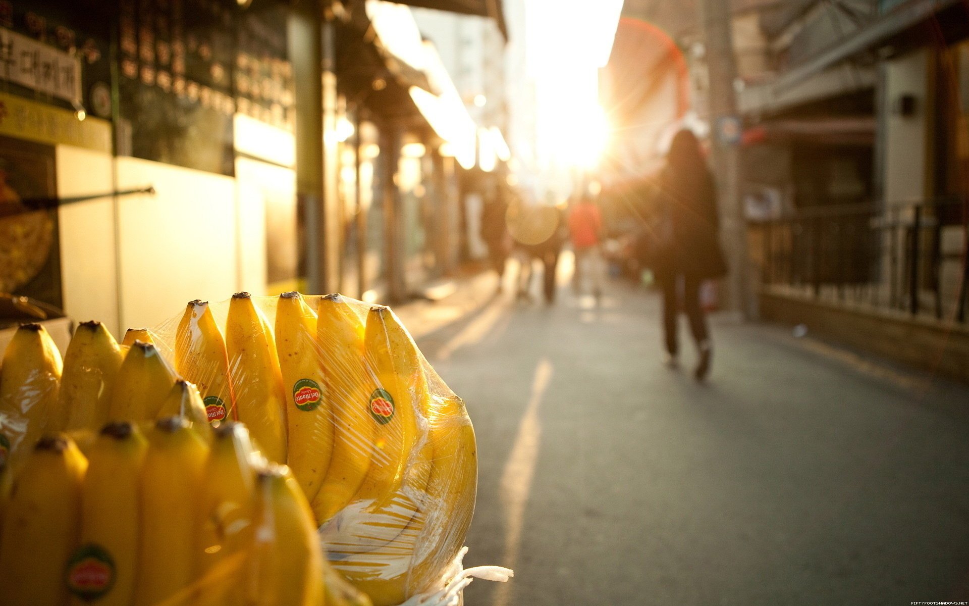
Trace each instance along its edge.
{"label": "yellow sign strip below the white Korean-lettered sign at upper left", "polygon": [[0,135],[111,152],[111,123],[0,93]]}

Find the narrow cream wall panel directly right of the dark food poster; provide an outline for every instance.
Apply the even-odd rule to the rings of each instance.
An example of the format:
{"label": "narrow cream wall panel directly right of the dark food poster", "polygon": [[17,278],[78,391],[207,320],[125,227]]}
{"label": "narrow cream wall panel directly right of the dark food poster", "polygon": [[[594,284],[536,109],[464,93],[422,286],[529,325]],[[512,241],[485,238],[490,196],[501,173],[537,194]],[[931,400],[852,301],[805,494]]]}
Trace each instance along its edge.
{"label": "narrow cream wall panel directly right of the dark food poster", "polygon": [[[57,145],[54,153],[58,197],[113,191],[110,154],[70,145]],[[65,312],[78,322],[100,320],[120,335],[113,198],[62,206],[57,213]]]}

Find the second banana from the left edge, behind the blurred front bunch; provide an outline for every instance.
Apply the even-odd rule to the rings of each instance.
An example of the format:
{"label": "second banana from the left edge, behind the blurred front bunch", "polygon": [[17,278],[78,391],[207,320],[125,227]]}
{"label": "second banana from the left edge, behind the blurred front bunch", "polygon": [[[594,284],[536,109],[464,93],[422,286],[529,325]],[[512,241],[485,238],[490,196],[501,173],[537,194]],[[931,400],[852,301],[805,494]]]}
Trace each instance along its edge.
{"label": "second banana from the left edge, behind the blurred front bunch", "polygon": [[124,357],[104,324],[81,322],[64,355],[54,431],[99,428],[108,420],[114,377]]}

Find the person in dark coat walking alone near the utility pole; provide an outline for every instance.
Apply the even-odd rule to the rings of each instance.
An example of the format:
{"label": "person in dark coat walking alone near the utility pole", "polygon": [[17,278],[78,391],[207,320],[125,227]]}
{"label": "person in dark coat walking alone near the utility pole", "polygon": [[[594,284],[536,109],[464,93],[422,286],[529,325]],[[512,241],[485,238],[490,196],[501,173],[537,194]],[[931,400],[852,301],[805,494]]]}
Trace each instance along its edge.
{"label": "person in dark coat walking alone near the utility pole", "polygon": [[653,272],[663,293],[663,332],[671,365],[679,353],[676,317],[678,291],[697,344],[698,380],[710,371],[712,348],[700,303],[703,281],[727,272],[719,240],[719,215],[713,175],[706,166],[696,136],[689,130],[673,137],[666,167],[659,176],[656,208],[662,217],[656,229]]}

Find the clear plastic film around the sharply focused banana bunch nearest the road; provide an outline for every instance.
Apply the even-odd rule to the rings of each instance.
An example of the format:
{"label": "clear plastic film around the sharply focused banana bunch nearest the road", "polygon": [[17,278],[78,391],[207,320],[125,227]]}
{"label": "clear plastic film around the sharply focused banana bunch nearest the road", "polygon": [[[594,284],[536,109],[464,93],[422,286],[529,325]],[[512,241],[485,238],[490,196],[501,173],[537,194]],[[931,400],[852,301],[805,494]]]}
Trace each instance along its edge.
{"label": "clear plastic film around the sharply focused banana bunch nearest the road", "polygon": [[[218,340],[212,327],[225,335],[224,360],[217,347],[203,363],[178,353]],[[440,582],[474,511],[474,431],[389,307],[240,294],[190,303],[152,334],[206,404],[221,399],[268,459],[290,466],[330,563],[375,605]],[[231,389],[206,392],[221,376]],[[272,456],[281,442],[285,458]]]}

